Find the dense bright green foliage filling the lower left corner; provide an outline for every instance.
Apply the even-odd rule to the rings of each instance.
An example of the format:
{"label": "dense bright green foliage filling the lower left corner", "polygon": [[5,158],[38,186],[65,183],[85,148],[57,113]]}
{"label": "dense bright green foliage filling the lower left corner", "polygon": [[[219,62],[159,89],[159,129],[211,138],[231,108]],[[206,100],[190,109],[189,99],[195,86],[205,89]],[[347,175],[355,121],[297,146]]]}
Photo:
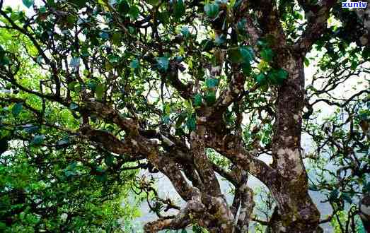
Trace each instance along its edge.
{"label": "dense bright green foliage filling the lower left corner", "polygon": [[30,148],[3,154],[1,230],[120,231],[125,220],[138,215],[131,205],[121,207],[129,186],[124,181],[117,183],[115,175],[107,169],[97,168],[96,174],[91,173],[91,167],[64,150],[50,153]]}

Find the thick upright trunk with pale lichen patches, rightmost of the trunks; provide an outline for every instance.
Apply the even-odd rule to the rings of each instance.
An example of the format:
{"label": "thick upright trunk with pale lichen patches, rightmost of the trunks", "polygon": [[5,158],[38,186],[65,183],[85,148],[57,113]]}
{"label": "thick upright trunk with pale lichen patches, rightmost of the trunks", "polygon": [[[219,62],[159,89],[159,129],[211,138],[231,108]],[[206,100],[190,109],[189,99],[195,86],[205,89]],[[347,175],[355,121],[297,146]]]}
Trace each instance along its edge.
{"label": "thick upright trunk with pale lichen patches, rightmost of the trunks", "polygon": [[304,98],[303,59],[284,51],[279,64],[289,78],[278,88],[277,120],[272,146],[272,195],[277,213],[272,232],[316,232],[320,213],[308,195],[308,179],[301,156],[301,124]]}

